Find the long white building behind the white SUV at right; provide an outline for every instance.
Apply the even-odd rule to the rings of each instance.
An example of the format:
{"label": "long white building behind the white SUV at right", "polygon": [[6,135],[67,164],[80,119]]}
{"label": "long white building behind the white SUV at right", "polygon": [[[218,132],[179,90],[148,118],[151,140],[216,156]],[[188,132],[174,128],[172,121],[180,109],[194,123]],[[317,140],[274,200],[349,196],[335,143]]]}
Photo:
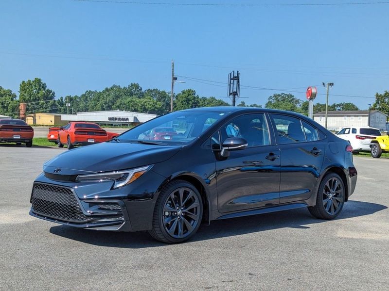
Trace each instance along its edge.
{"label": "long white building behind the white SUV at right", "polygon": [[[325,111],[314,113],[313,119],[325,127]],[[385,130],[388,115],[378,110],[370,112],[370,127]],[[369,110],[329,111],[327,129],[337,131],[350,126],[369,126]]]}

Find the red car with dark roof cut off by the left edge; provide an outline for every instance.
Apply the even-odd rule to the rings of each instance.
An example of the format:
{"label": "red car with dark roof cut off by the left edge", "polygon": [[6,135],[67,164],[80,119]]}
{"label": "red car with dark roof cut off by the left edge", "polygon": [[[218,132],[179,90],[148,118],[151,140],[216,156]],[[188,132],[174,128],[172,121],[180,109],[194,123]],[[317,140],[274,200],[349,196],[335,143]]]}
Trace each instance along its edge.
{"label": "red car with dark roof cut off by the left edge", "polygon": [[20,119],[0,119],[0,143],[33,146],[34,129]]}

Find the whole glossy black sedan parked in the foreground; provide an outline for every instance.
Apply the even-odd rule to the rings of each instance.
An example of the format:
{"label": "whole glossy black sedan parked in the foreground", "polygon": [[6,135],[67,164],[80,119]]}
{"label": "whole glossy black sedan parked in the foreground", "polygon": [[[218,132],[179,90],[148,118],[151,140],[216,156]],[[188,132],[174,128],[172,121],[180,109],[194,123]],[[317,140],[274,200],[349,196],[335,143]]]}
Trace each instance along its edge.
{"label": "whole glossy black sedan parked in the foreground", "polygon": [[[158,128],[175,134],[153,139]],[[302,207],[333,219],[354,192],[352,152],[297,113],[178,111],[46,162],[30,214],[81,228],[148,230],[161,242],[188,240],[202,222]]]}

